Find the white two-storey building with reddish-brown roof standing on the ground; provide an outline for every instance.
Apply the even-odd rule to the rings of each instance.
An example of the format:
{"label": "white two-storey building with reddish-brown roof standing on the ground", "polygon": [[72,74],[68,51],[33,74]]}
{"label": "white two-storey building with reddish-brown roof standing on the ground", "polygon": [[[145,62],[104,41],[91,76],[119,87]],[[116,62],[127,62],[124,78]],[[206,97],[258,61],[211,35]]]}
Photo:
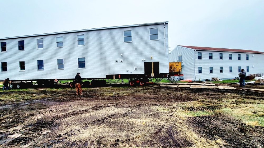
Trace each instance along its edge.
{"label": "white two-storey building with reddish-brown roof standing on the ground", "polygon": [[241,69],[247,75],[264,73],[264,52],[241,49],[176,46],[169,62],[182,62],[184,79],[234,79]]}

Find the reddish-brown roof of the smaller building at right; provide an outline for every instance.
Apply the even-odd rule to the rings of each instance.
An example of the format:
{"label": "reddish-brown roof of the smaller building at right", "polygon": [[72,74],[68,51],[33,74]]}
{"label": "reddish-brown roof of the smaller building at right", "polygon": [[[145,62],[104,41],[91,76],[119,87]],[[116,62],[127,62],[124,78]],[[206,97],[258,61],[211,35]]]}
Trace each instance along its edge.
{"label": "reddish-brown roof of the smaller building at right", "polygon": [[229,49],[229,48],[212,48],[212,47],[196,47],[196,46],[182,46],[181,47],[191,48],[194,50],[204,50],[204,51],[220,51],[220,52],[241,52],[241,53],[260,53],[264,52],[254,51],[254,50],[243,50],[243,49]]}

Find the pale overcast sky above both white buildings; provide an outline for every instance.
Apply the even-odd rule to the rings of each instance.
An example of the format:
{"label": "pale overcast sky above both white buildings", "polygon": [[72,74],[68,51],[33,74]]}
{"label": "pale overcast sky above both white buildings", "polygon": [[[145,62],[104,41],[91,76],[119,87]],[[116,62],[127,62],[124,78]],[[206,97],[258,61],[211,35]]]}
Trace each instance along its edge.
{"label": "pale overcast sky above both white buildings", "polygon": [[264,0],[0,0],[0,38],[168,21],[177,45],[264,52]]}

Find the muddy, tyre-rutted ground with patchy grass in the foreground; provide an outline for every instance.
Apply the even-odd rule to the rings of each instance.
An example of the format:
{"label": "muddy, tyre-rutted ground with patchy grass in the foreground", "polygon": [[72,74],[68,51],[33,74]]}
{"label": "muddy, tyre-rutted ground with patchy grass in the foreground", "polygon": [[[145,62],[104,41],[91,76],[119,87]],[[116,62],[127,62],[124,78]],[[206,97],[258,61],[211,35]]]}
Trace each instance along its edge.
{"label": "muddy, tyre-rutted ground with patchy grass in the foreground", "polygon": [[63,85],[1,90],[0,147],[264,148],[264,127],[236,116],[255,108],[263,119],[264,94],[217,85],[237,89],[111,85],[83,88],[83,96]]}

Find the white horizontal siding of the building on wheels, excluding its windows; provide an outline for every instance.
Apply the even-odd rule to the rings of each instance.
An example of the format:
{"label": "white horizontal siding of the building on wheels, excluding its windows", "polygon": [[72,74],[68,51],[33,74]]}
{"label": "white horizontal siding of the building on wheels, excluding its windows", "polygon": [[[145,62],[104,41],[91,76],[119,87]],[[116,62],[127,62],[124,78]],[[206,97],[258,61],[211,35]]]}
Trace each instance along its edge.
{"label": "white horizontal siding of the building on wheels, excluding its windows", "polygon": [[[158,40],[149,40],[150,28],[158,28]],[[159,73],[168,73],[168,24],[165,28],[165,53],[164,24],[2,39],[0,42],[6,42],[7,51],[0,53],[0,62],[7,62],[7,72],[1,72],[0,79],[72,79],[77,72],[82,78],[144,74],[144,62],[159,62]],[[124,43],[125,30],[132,30],[130,43]],[[77,46],[77,35],[82,34],[85,45]],[[56,48],[56,37],[63,37],[63,47]],[[40,38],[43,49],[37,49]],[[18,40],[24,40],[25,50],[18,51]],[[77,59],[83,57],[85,68],[78,68]],[[64,69],[57,69],[57,59],[64,59]],[[37,60],[44,60],[44,70],[37,70]],[[19,70],[19,61],[25,61],[25,71]]]}

